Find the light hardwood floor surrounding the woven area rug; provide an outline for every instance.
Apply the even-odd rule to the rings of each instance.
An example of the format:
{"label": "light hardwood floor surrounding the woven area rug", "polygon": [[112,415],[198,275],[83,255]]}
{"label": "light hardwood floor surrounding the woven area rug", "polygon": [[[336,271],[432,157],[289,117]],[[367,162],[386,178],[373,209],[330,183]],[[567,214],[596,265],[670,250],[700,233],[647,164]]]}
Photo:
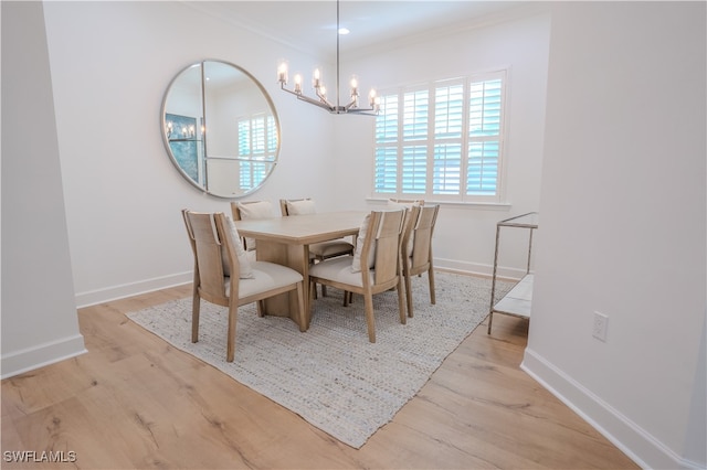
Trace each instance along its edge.
{"label": "light hardwood floor surrounding the woven area rug", "polygon": [[[2,381],[2,468],[637,468],[519,368],[526,320],[477,328],[357,450],[125,317],[189,295],[81,309],[87,354]],[[75,461],[7,461],[50,450]]]}

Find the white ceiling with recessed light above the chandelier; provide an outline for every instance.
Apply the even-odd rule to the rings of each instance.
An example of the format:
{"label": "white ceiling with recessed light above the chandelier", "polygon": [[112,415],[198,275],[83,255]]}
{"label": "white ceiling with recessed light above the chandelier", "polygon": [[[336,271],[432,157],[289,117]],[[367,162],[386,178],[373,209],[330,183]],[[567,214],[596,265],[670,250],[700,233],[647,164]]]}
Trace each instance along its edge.
{"label": "white ceiling with recessed light above the chandelier", "polygon": [[[334,60],[337,2],[184,1],[191,8],[265,35],[302,52]],[[412,35],[472,28],[508,14],[521,1],[341,0],[339,23],[351,32],[340,36],[340,52],[361,53],[381,43]]]}

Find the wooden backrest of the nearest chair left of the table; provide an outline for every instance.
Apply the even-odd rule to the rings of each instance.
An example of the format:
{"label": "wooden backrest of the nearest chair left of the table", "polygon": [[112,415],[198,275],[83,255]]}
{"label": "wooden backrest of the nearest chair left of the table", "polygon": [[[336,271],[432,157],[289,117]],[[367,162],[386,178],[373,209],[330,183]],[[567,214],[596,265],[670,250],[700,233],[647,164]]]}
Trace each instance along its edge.
{"label": "wooden backrest of the nearest chair left of the table", "polygon": [[194,284],[204,299],[223,305],[228,301],[224,261],[230,273],[239,273],[235,248],[225,235],[225,216],[188,210],[182,216],[194,255]]}

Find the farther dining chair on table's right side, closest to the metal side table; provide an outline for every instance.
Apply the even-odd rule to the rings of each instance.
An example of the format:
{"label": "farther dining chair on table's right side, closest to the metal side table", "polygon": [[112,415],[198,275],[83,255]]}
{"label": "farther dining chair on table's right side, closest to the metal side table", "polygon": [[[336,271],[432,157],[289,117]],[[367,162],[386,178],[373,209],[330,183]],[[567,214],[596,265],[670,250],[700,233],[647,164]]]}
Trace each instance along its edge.
{"label": "farther dining chair on table's right side, closest to the metal side table", "polygon": [[412,318],[412,276],[428,273],[430,303],[436,303],[434,295],[434,263],[432,258],[432,235],[437,221],[439,205],[413,205],[402,235],[402,273],[408,298],[408,317]]}

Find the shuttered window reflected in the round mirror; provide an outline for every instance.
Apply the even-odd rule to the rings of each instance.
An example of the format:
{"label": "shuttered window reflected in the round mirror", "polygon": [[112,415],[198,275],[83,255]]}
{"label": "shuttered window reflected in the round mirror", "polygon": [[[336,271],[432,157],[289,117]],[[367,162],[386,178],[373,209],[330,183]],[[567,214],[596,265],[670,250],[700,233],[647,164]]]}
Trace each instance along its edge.
{"label": "shuttered window reflected in the round mirror", "polygon": [[239,120],[239,160],[241,188],[261,184],[270,165],[263,162],[275,160],[277,129],[272,115],[255,115]]}

